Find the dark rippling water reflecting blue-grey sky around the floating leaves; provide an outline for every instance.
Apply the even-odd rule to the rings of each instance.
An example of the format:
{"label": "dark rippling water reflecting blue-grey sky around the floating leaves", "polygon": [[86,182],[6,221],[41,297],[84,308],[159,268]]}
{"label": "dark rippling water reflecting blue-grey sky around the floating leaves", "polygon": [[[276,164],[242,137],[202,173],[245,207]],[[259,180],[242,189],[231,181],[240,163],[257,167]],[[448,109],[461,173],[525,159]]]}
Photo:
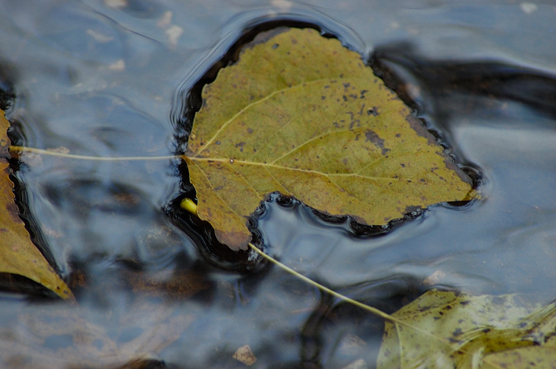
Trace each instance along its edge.
{"label": "dark rippling water reflecting blue-grey sky around the floating leaves", "polygon": [[[1,1],[1,9],[0,88],[15,95],[13,143],[88,156],[175,154],[188,131],[188,92],[246,29],[276,19],[321,26],[375,66],[478,174],[482,199],[432,206],[380,236],[273,199],[259,219],[265,249],[386,312],[423,293],[438,270],[443,288],[556,297],[550,3]],[[382,321],[218,249],[175,206],[190,194],[180,161],[26,155],[13,165],[22,218],[79,305],[5,293],[5,366],[146,358],[239,367],[231,355],[243,345],[260,368],[375,365]]]}

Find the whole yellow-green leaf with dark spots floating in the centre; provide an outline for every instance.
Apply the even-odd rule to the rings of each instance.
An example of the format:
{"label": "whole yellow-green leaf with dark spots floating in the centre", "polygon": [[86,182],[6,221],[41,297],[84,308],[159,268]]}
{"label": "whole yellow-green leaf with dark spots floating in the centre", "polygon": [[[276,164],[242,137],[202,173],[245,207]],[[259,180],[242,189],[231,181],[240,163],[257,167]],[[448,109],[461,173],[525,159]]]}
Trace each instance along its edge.
{"label": "whole yellow-green leaf with dark spots floating in the centre", "polygon": [[466,198],[466,174],[359,54],[286,30],[202,92],[185,158],[199,218],[222,243],[245,248],[246,218],[274,191],[363,224]]}

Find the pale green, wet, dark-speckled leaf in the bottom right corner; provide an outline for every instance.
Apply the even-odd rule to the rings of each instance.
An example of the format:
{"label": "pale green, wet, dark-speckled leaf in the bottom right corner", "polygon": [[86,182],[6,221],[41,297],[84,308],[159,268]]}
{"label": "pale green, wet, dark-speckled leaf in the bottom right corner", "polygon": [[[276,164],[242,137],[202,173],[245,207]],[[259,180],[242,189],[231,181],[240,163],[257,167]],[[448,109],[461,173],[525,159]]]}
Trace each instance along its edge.
{"label": "pale green, wet, dark-speckled leaf in the bottom right corner", "polygon": [[555,304],[431,290],[392,316],[379,368],[556,367]]}

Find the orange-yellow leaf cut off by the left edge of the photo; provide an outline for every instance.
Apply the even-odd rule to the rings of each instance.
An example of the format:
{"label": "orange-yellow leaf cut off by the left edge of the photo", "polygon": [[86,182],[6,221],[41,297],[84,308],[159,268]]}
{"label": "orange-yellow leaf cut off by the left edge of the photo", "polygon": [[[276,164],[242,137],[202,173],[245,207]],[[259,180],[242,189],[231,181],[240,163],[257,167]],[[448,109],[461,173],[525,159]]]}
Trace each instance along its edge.
{"label": "orange-yellow leaf cut off by the left edge of the photo", "polygon": [[53,290],[63,299],[73,298],[72,291],[31,243],[29,233],[18,216],[13,183],[8,165],[8,127],[0,110],[0,272],[19,274]]}

